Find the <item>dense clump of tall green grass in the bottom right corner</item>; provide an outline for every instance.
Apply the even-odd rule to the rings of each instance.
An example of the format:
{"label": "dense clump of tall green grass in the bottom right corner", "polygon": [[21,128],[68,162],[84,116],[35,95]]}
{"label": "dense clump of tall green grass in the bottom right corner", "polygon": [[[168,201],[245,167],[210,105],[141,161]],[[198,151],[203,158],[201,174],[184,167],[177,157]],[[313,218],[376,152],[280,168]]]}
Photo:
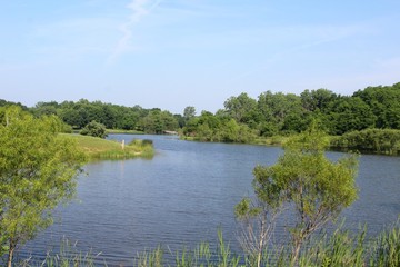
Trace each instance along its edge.
{"label": "dense clump of tall green grass in the bottom right corner", "polygon": [[399,267],[400,224],[397,221],[370,239],[367,227],[356,234],[339,228],[329,237],[311,240],[299,266]]}

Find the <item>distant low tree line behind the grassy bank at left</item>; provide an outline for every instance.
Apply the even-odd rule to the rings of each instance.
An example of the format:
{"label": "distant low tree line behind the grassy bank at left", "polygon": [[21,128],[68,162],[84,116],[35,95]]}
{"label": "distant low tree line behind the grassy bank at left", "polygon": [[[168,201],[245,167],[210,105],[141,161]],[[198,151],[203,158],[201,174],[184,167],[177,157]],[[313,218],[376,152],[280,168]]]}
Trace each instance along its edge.
{"label": "distant low tree line behind the grassy bank at left", "polygon": [[124,107],[101,101],[57,101],[38,102],[34,107],[28,108],[21,103],[9,102],[0,99],[1,106],[20,106],[23,110],[30,111],[37,118],[42,116],[58,116],[72,129],[83,129],[90,122],[96,121],[107,129],[138,130],[147,134],[163,134],[164,130],[178,129],[180,117],[159,108],[144,109],[140,106]]}

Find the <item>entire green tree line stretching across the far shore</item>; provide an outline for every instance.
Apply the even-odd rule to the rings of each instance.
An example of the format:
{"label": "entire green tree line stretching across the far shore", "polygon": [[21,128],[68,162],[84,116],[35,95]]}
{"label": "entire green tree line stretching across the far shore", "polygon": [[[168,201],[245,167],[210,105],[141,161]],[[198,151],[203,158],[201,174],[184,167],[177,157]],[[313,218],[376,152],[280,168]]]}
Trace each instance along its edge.
{"label": "entire green tree line stretching across the far shore", "polygon": [[[0,106],[8,103],[0,100]],[[316,89],[304,90],[300,96],[266,91],[253,99],[242,92],[228,98],[217,112],[203,110],[200,115],[196,115],[191,106],[182,115],[173,115],[159,108],[124,107],[86,99],[38,102],[32,108],[22,108],[37,117],[57,115],[74,129],[97,121],[108,129],[147,134],[178,130],[199,140],[247,142],[257,137],[301,132],[316,119],[332,136],[373,128],[400,129],[400,82],[368,87],[352,96]]]}

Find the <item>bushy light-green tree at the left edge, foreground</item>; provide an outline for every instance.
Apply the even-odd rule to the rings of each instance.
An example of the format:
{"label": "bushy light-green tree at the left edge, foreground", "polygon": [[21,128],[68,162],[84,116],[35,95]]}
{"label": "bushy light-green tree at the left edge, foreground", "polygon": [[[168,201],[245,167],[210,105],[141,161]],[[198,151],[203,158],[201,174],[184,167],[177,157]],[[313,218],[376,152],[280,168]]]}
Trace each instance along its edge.
{"label": "bushy light-green tree at the left edge, foreground", "polygon": [[17,246],[52,222],[51,210],[71,199],[84,156],[59,135],[56,117],[33,118],[18,107],[0,121],[0,247],[11,267]]}

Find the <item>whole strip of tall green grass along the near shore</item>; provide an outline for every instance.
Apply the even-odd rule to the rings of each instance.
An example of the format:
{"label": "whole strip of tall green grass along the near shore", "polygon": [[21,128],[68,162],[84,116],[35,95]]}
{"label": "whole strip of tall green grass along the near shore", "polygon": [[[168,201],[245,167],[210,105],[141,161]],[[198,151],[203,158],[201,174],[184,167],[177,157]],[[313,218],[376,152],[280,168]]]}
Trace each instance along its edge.
{"label": "whole strip of tall green grass along the near shore", "polygon": [[[350,233],[339,227],[331,235],[324,234],[310,239],[304,247],[297,264],[299,267],[399,267],[400,224],[397,221],[377,237],[369,239],[367,238],[367,227],[360,228],[358,233]],[[216,249],[211,249],[208,243],[201,243],[193,250],[183,247],[176,253],[159,246],[153,250],[139,253],[132,259],[132,265],[138,267],[240,267],[256,266],[253,258],[251,255],[234,254],[229,244],[223,240],[222,231],[219,230]],[[291,258],[290,244],[269,247],[263,254],[261,266],[290,267],[292,266]],[[91,267],[108,266],[108,264],[106,259],[101,259],[100,254],[82,254],[76,248],[76,245],[64,240],[60,251],[57,254],[48,253],[44,260],[38,261],[29,258],[14,266]]]}

